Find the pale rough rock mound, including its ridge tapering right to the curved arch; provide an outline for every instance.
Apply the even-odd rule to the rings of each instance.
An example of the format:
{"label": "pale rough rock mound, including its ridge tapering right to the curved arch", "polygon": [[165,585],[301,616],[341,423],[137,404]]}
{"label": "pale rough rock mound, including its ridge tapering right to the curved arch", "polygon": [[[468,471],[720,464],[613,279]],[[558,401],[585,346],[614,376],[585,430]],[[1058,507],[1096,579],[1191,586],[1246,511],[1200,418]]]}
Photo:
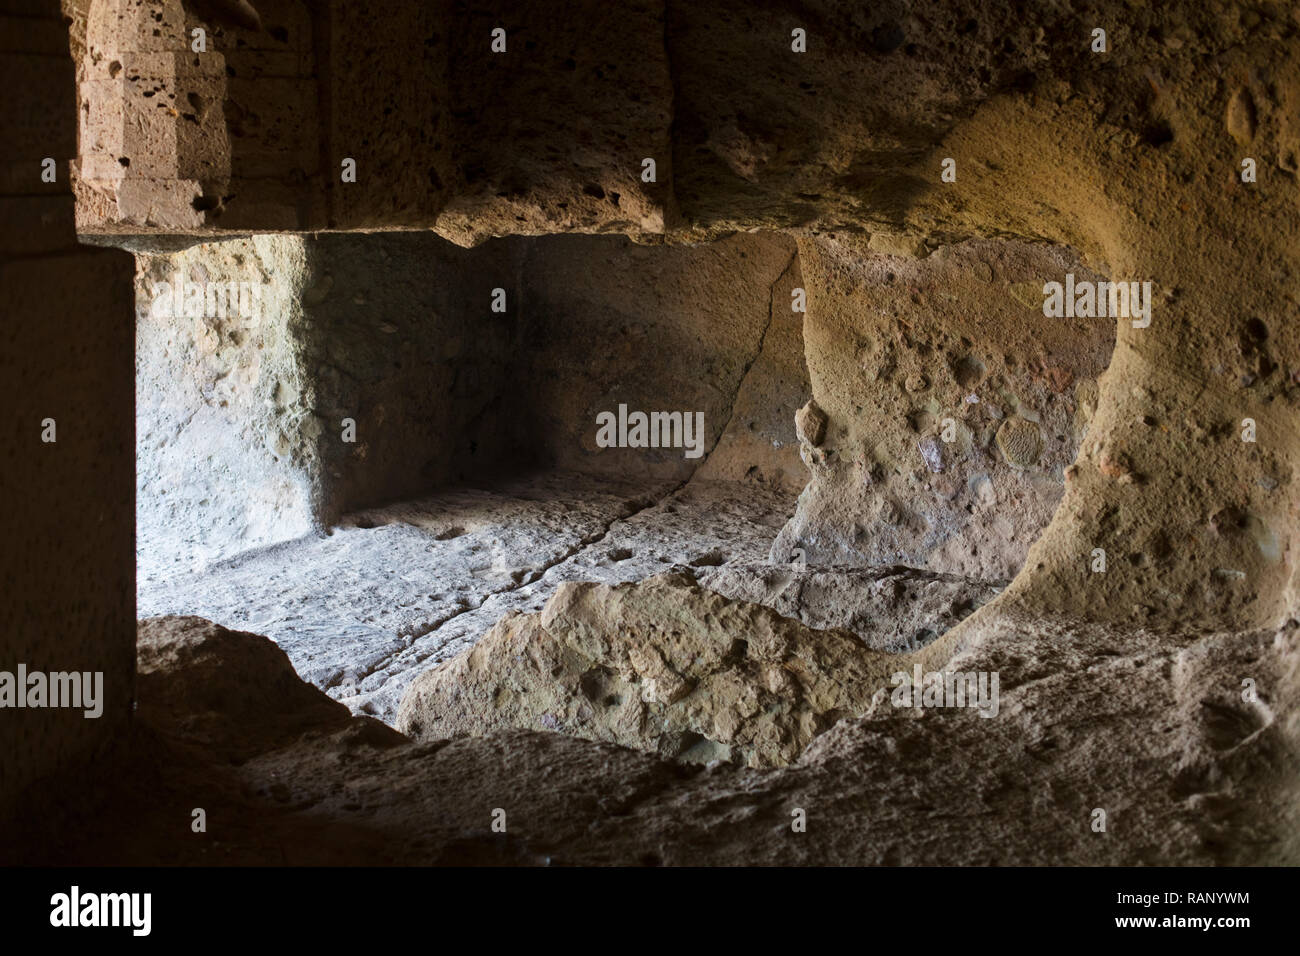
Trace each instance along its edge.
{"label": "pale rough rock mound, including its ridge tapering right to the curved arch", "polygon": [[897,670],[875,652],[920,649],[997,589],[910,568],[762,562],[567,581],[540,614],[508,613],[416,678],[398,727],[426,740],[528,727],[780,766],[862,713],[880,685],[867,676]]}

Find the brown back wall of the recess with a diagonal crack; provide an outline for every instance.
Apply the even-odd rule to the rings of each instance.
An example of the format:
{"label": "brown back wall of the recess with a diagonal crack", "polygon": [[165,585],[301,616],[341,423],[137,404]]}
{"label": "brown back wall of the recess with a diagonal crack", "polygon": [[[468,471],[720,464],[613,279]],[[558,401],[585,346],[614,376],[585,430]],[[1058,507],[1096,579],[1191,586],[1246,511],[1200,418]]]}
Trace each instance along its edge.
{"label": "brown back wall of the recess with a diagonal crack", "polygon": [[[749,477],[763,472],[781,484],[801,471],[792,412],[807,395],[807,372],[800,316],[780,289],[793,242],[771,234],[702,246],[517,242],[526,337],[512,390],[520,438],[542,462],[684,481],[732,425],[719,458],[733,460],[706,476],[741,479],[754,468]],[[763,394],[762,411],[753,398],[744,406],[753,390]],[[629,415],[690,415],[703,434],[689,450],[601,447],[597,419],[620,405]]]}

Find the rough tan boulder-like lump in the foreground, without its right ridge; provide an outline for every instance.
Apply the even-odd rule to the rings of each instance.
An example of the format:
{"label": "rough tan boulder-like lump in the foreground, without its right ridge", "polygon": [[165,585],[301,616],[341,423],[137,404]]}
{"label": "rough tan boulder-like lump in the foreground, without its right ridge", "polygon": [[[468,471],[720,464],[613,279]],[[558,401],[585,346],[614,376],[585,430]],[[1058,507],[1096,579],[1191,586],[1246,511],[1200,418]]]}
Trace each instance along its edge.
{"label": "rough tan boulder-like lump in the foreground, without its right ridge", "polygon": [[422,740],[523,727],[694,762],[792,762],[861,713],[888,657],[686,575],[563,584],[417,678],[398,728]]}

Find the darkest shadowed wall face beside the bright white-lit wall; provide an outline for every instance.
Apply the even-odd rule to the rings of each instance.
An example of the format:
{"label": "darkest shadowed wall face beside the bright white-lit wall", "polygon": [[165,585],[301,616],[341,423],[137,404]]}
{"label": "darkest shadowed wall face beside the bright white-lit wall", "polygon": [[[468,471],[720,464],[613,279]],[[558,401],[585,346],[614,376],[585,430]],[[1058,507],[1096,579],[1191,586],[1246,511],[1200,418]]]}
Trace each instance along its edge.
{"label": "darkest shadowed wall face beside the bright white-lit wall", "polygon": [[[430,233],[308,241],[296,333],[315,388],[320,522],[517,462],[504,398],[514,255]],[[491,308],[494,289],[507,290],[504,312]]]}

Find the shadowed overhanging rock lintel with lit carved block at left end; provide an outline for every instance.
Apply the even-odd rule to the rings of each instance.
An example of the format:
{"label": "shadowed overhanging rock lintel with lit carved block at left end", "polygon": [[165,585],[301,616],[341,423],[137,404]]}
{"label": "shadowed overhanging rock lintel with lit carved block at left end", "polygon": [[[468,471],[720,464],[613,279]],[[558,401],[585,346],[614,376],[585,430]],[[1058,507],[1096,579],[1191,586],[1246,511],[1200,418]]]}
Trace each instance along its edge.
{"label": "shadowed overhanging rock lintel with lit carved block at left end", "polygon": [[[894,219],[923,191],[936,142],[1049,65],[1080,70],[1066,38],[1092,23],[1005,3],[376,14],[263,0],[256,21],[181,0],[65,7],[86,113],[83,229],[434,228],[458,243]],[[792,51],[793,29],[807,53]]]}

